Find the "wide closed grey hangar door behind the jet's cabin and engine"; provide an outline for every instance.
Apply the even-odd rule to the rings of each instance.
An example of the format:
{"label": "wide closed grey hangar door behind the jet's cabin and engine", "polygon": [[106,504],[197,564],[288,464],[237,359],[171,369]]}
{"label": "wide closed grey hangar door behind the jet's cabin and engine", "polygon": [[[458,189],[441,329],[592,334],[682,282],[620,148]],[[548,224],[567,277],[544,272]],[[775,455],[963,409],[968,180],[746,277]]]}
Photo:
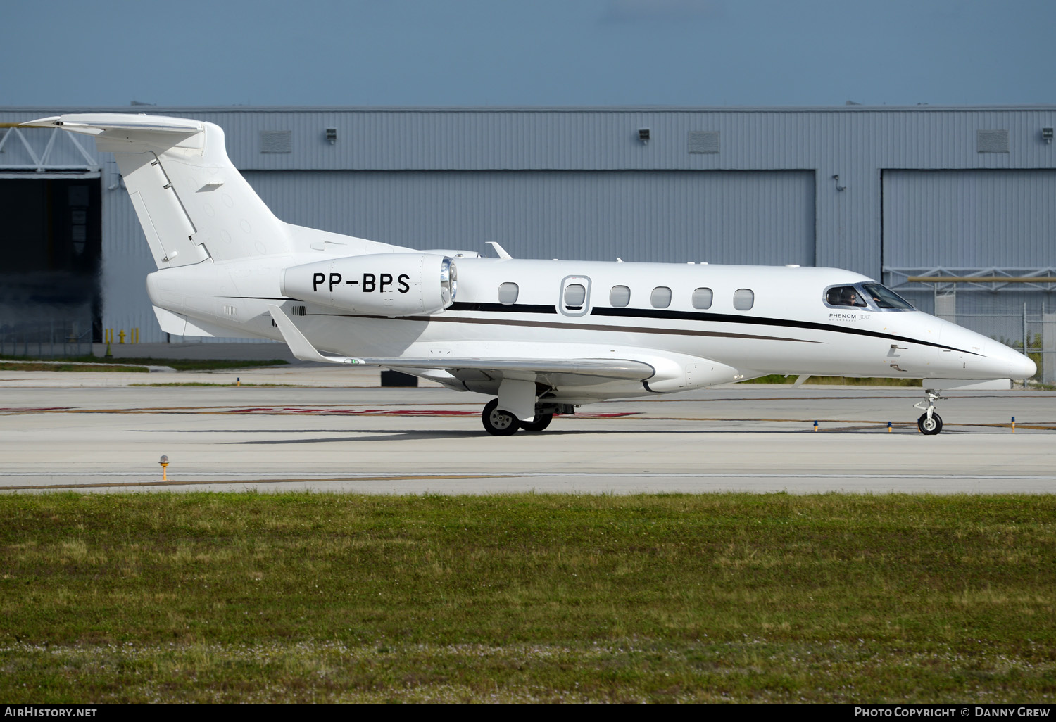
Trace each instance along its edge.
{"label": "wide closed grey hangar door behind the jet's cabin and engine", "polygon": [[253,171],[284,221],[520,258],[814,264],[813,171]]}

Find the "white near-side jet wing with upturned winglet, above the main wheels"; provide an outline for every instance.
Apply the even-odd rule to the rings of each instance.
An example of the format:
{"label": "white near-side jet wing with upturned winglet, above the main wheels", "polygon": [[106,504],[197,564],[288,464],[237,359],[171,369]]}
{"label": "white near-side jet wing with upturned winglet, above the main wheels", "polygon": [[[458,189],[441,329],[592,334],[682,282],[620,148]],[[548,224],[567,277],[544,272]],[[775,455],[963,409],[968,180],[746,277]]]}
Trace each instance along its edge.
{"label": "white near-side jet wing with upturned winglet, above the main wheels", "polygon": [[320,354],[304,334],[294,325],[279,306],[268,304],[283,340],[294,356],[302,361],[347,363],[383,366],[385,368],[431,368],[447,372],[475,370],[502,374],[569,374],[601,379],[644,381],[656,369],[642,361],[628,359],[459,359],[451,357],[399,357],[392,359],[358,358],[353,356],[325,356]]}

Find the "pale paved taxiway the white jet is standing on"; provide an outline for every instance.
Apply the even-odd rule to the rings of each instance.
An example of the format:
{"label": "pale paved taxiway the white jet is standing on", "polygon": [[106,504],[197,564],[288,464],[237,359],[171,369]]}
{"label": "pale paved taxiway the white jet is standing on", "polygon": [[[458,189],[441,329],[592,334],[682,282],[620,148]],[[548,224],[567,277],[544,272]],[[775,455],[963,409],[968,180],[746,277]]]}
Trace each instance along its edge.
{"label": "pale paved taxiway the white jet is standing on", "polygon": [[[303,387],[128,385],[234,378]],[[545,432],[492,437],[486,397],[377,378],[318,366],[0,372],[0,491],[1056,491],[1053,392],[950,392],[938,436],[917,431],[917,388],[734,385],[599,403]]]}

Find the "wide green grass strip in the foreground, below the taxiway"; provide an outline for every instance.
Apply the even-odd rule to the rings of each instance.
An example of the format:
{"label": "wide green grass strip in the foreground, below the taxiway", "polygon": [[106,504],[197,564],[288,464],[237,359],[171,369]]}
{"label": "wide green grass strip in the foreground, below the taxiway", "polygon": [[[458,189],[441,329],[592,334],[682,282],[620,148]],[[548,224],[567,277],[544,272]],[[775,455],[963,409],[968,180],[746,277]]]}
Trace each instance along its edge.
{"label": "wide green grass strip in the foreground, below the taxiway", "polygon": [[1056,497],[0,496],[0,699],[1050,701]]}

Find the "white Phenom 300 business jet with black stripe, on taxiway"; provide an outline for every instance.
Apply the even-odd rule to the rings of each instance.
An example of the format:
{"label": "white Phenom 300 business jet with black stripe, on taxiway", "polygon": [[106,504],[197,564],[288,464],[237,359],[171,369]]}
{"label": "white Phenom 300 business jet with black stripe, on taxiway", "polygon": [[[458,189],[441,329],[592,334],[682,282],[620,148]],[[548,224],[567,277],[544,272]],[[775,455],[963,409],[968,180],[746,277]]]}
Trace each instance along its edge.
{"label": "white Phenom 300 business jet with black stripe, on taxiway", "polygon": [[24,125],[114,153],[157,263],[147,289],[166,332],[282,340],[305,361],[489,394],[482,419],[497,436],[604,399],[768,374],[928,380],[918,425],[938,434],[936,390],[1036,370],[851,271],[391,246],[277,218],[209,122],[89,113]]}

